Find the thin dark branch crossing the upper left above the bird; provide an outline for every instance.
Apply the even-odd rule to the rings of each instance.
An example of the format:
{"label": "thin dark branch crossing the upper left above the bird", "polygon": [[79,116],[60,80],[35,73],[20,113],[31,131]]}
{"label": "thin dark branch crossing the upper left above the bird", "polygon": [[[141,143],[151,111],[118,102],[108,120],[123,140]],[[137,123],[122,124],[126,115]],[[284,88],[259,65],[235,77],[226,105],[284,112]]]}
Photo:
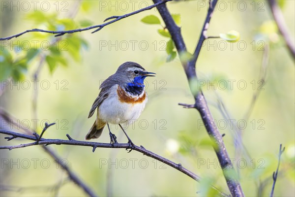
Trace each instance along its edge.
{"label": "thin dark branch crossing the upper left above the bird", "polygon": [[163,1],[159,1],[158,3],[156,4],[152,4],[148,7],[145,7],[145,8],[142,8],[142,9],[139,9],[139,10],[136,10],[134,12],[131,12],[131,13],[128,13],[128,14],[125,14],[125,15],[121,15],[121,16],[111,16],[107,19],[104,20],[104,22],[110,20],[110,19],[114,19],[112,21],[109,21],[107,23],[103,23],[101,25],[94,25],[94,26],[90,26],[90,27],[87,27],[87,28],[82,28],[82,29],[75,29],[75,30],[67,30],[67,31],[48,31],[48,30],[41,30],[41,29],[32,29],[32,30],[27,30],[27,31],[24,31],[22,33],[17,33],[17,34],[14,34],[14,35],[11,35],[11,36],[8,36],[8,37],[2,37],[0,38],[0,40],[10,40],[14,37],[19,37],[25,33],[29,33],[29,32],[43,32],[43,33],[53,33],[53,34],[56,34],[55,36],[61,36],[61,35],[64,35],[66,33],[76,33],[76,32],[83,32],[83,31],[88,31],[88,30],[92,30],[92,29],[96,29],[95,31],[91,32],[91,33],[95,33],[95,32],[98,32],[99,30],[101,30],[102,28],[104,28],[105,26],[107,25],[110,25],[112,23],[115,23],[123,18],[127,18],[129,16],[132,16],[134,14],[138,14],[140,12],[143,12],[143,11],[146,11],[146,10],[150,10],[154,7],[156,7],[157,5],[161,5],[161,4],[164,4],[168,1],[172,1],[172,0],[163,0]]}

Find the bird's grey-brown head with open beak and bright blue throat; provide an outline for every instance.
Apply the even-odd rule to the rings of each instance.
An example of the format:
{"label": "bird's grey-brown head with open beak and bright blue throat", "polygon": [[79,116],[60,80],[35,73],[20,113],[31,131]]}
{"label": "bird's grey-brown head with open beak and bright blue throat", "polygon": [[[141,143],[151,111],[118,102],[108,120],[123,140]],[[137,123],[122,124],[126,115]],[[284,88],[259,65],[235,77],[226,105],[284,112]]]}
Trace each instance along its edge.
{"label": "bird's grey-brown head with open beak and bright blue throat", "polygon": [[148,72],[143,66],[135,62],[125,62],[118,67],[115,75],[120,77],[123,87],[142,87],[144,88],[144,80],[147,76],[154,76],[153,72]]}

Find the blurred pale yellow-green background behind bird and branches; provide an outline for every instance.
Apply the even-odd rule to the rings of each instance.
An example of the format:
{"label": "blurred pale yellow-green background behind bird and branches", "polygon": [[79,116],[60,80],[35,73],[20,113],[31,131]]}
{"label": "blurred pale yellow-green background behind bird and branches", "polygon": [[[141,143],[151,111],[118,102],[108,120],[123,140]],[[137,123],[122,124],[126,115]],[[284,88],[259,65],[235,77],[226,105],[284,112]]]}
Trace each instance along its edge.
{"label": "blurred pale yellow-green background behind bird and branches", "polygon": [[[102,24],[107,17],[152,4],[136,0],[50,0],[35,4],[27,1],[28,7],[25,1],[0,2],[1,37],[33,28],[70,30]],[[180,14],[181,33],[188,51],[193,53],[207,13],[207,1],[167,4],[171,13]],[[294,40],[295,1],[283,0],[279,4]],[[134,127],[127,128],[128,135],[136,145],[181,163],[204,180],[198,183],[136,151],[127,154],[124,149],[97,148],[92,153],[91,148],[82,146],[51,148],[99,196],[216,196],[210,184],[229,194],[200,115],[178,105],[193,103],[194,99],[178,56],[166,61],[169,37],[157,32],[163,30],[164,22],[161,18],[162,25],[141,22],[148,15],[160,18],[154,8],[97,33],[90,30],[60,37],[28,33],[1,41],[0,106],[20,125],[38,132],[46,121],[56,122],[45,132],[45,138],[66,139],[65,134],[69,133],[74,139],[84,140],[94,121],[87,117],[101,82],[122,63],[137,62],[157,76],[146,80],[149,101]],[[274,194],[295,196],[294,59],[277,31],[266,1],[219,1],[207,34],[218,36],[231,30],[240,33],[238,42],[205,41],[196,68],[198,77],[206,82],[202,90],[219,131],[225,133],[223,139],[245,195],[269,196],[279,144],[283,144],[286,151]],[[262,63],[263,58],[266,64]],[[36,91],[31,80],[36,70],[39,81],[35,82],[38,96],[34,111]],[[265,82],[260,81],[264,74]],[[3,119],[1,128],[12,129]],[[127,142],[116,126],[111,129],[118,142]],[[236,141],[237,136],[243,146]],[[109,142],[107,130],[94,141]],[[0,142],[10,145],[28,141],[7,142],[1,134]],[[64,170],[41,147],[0,150],[0,157],[0,196],[86,196],[68,181]],[[54,189],[56,185],[61,187]]]}

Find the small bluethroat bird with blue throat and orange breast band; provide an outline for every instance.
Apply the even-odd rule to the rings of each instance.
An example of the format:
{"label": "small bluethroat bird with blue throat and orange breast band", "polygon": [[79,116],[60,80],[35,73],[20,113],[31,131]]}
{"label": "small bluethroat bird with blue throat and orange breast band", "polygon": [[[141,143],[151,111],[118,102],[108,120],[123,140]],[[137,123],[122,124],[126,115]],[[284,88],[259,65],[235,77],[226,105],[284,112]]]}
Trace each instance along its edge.
{"label": "small bluethroat bird with blue throat and orange breast band", "polygon": [[144,80],[147,76],[154,76],[152,74],[155,73],[147,72],[137,63],[125,62],[118,67],[115,74],[103,81],[99,87],[101,91],[89,112],[88,118],[97,108],[96,120],[86,139],[98,138],[107,125],[111,143],[117,143],[117,137],[111,132],[109,124],[118,124],[128,138],[130,149],[134,149],[134,144],[121,124],[130,124],[130,121],[138,119],[144,110],[148,101]]}

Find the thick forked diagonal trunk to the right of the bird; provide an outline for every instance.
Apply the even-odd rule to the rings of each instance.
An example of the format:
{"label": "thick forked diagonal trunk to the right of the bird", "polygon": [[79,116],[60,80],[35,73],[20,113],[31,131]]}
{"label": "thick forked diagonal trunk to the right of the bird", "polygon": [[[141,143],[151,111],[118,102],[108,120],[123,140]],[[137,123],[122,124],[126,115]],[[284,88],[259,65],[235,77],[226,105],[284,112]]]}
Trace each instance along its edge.
{"label": "thick forked diagonal trunk to the right of the bird", "polygon": [[[154,3],[158,3],[161,0],[153,0]],[[198,41],[196,50],[194,52],[193,58],[189,61],[181,61],[182,66],[184,67],[187,79],[189,83],[197,80],[197,74],[196,74],[196,61],[199,57],[201,46],[206,39],[206,32],[208,29],[209,21],[211,19],[212,13],[214,11],[215,5],[217,3],[217,0],[211,0],[210,1],[210,7],[208,8],[207,17],[203,26],[203,29],[201,31],[200,39]],[[170,12],[168,11],[165,4],[157,6],[157,9],[164,20],[167,29],[169,30],[169,33],[171,34],[171,37],[175,43],[175,46],[177,48],[178,55],[180,56],[182,53],[187,53],[186,46],[184,44],[180,28],[176,25],[175,21],[173,20]],[[180,58],[181,60],[181,58]],[[201,90],[198,90],[198,93],[195,94],[195,90],[191,90],[194,99],[195,104],[193,105],[187,105],[187,104],[181,104],[182,106],[185,106],[187,108],[196,108],[204,122],[204,125],[206,127],[207,133],[209,134],[214,146],[215,153],[217,155],[217,158],[219,160],[219,163],[223,169],[223,174],[226,179],[227,185],[229,187],[229,190],[231,191],[232,195],[234,197],[243,197],[244,194],[242,192],[241,186],[236,178],[236,172],[233,169],[232,162],[230,160],[229,154],[227,153],[227,150],[225,148],[225,145],[222,140],[222,135],[217,130],[216,125],[214,124],[213,117],[211,115],[211,112],[207,106],[207,101],[203,95],[203,92]],[[230,172],[229,172],[230,171]]]}

